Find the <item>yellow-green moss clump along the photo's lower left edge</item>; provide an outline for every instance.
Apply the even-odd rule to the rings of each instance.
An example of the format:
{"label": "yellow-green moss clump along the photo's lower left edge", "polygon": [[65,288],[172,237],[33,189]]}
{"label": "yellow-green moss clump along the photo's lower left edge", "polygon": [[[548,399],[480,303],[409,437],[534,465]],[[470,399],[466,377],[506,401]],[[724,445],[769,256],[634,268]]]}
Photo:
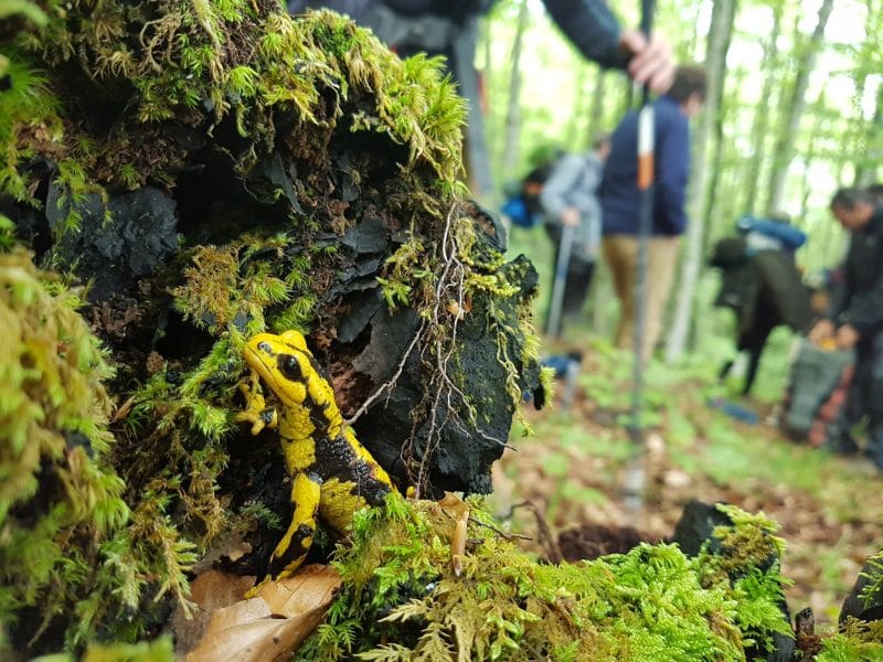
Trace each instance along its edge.
{"label": "yellow-green moss clump along the photo's lower left edge", "polygon": [[81,303],[23,250],[0,255],[0,622],[20,650],[50,629],[68,645],[141,634],[146,587],[183,597],[193,560],[162,528],[161,504],[146,519],[123,499],[109,465],[111,367]]}

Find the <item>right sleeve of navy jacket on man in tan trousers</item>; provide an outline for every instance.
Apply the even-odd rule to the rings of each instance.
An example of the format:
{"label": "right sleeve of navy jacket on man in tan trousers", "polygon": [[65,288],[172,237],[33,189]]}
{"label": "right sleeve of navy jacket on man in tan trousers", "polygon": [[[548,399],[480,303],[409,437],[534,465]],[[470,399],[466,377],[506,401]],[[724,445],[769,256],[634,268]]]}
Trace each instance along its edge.
{"label": "right sleeve of navy jacket on man in tan trousers", "polygon": [[653,196],[653,231],[678,235],[687,227],[687,182],[690,175],[690,126],[677,109],[655,106],[659,122]]}

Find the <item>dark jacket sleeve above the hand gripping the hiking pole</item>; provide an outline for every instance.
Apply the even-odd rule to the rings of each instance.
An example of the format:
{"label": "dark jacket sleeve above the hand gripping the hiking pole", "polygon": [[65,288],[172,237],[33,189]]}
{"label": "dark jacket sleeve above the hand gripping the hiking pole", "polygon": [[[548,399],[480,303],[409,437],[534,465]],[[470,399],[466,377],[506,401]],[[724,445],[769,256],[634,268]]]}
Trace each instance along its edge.
{"label": "dark jacket sleeve above the hand gripping the hiking pole", "polygon": [[625,68],[619,21],[603,0],[544,0],[552,19],[579,52],[604,67]]}

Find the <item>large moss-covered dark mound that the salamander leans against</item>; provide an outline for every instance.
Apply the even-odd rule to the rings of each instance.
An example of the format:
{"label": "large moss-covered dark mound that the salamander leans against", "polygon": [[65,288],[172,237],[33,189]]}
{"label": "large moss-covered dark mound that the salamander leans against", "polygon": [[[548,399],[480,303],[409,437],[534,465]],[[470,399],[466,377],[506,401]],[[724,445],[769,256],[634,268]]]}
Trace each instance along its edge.
{"label": "large moss-covered dark mound that the salamander leans against", "polygon": [[[443,63],[402,61],[347,19],[295,19],[275,0],[41,8],[45,21],[0,26],[0,238],[86,286],[70,314],[102,362],[79,366],[85,413],[85,386],[60,391],[49,357],[4,357],[38,385],[8,402],[55,445],[44,453],[25,430],[3,449],[29,462],[0,477],[9,531],[52,546],[22,590],[25,547],[0,541],[17,643],[149,633],[167,598],[187,604],[193,564],[243,537],[255,553],[238,569],[263,574],[288,477],[275,436],[252,437],[235,414],[244,341],[265,329],[305,332],[400,487],[488,491],[539,384],[535,273],[506,261],[501,228],[466,200],[464,102]],[[68,456],[94,492],[73,520],[50,508]],[[50,627],[22,627],[26,609]]]}

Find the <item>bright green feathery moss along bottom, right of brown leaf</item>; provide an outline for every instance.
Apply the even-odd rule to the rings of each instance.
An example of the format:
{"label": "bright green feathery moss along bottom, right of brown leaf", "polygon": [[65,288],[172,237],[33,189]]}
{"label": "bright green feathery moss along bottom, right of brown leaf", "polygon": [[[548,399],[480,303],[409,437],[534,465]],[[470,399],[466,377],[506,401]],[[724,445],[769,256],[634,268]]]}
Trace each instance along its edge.
{"label": "bright green feathery moss along bottom, right of brown leaf", "polygon": [[[343,588],[300,660],[744,660],[773,632],[781,578],[747,555],[685,557],[674,545],[549,565],[471,508],[461,574],[455,521],[435,502],[392,496],[362,511],[334,566]],[[716,535],[769,552],[768,522],[731,509]]]}

